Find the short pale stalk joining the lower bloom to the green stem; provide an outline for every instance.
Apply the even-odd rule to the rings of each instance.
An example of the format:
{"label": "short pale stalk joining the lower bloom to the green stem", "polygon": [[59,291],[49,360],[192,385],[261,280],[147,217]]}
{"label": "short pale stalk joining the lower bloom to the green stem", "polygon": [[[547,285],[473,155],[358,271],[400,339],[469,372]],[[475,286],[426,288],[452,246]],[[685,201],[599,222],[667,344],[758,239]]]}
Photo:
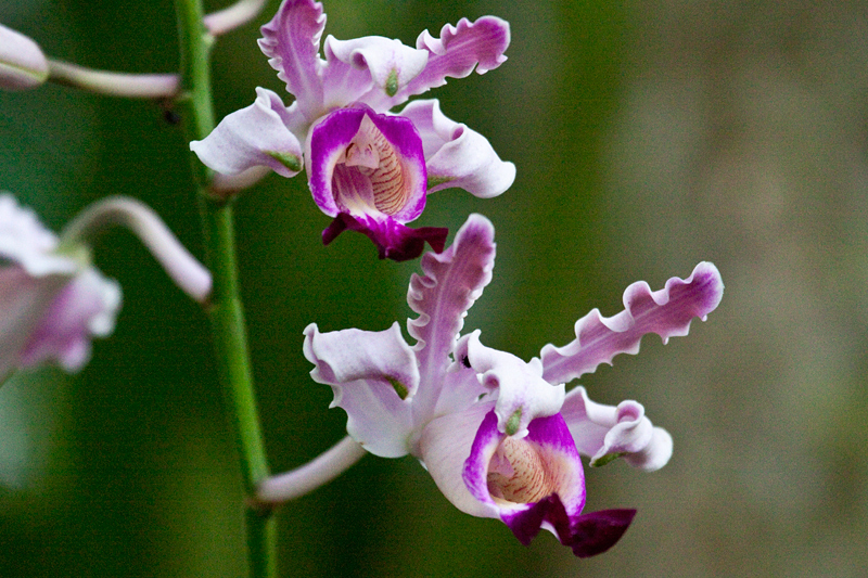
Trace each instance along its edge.
{"label": "short pale stalk joining the lower bloom to the green stem", "polygon": [[301,498],[346,472],[366,453],[358,441],[347,436],[311,462],[263,481],[255,501],[275,506]]}

